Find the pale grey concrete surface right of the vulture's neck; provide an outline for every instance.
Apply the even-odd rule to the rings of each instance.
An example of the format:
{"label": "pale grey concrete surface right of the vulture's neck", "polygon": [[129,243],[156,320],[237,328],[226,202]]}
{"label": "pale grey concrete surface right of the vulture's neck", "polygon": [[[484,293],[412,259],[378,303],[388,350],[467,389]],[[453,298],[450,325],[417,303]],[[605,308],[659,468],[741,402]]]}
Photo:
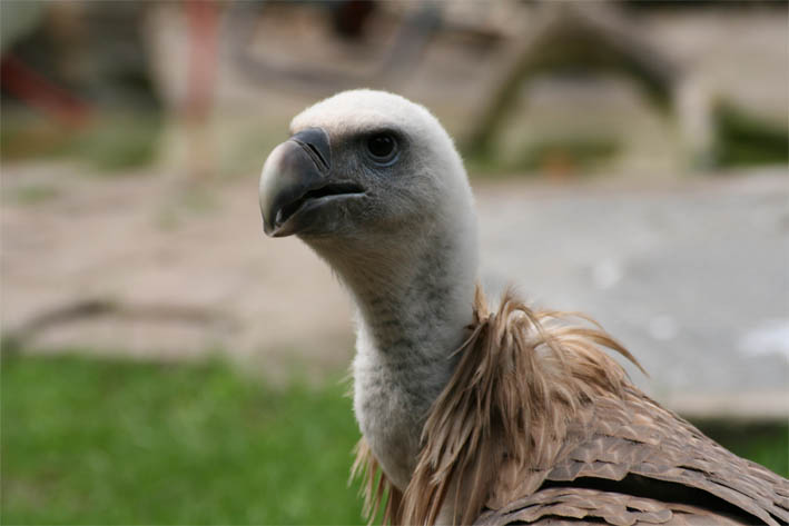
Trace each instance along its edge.
{"label": "pale grey concrete surface right of the vulture's neck", "polygon": [[483,280],[598,319],[686,414],[789,415],[786,171],[479,191]]}

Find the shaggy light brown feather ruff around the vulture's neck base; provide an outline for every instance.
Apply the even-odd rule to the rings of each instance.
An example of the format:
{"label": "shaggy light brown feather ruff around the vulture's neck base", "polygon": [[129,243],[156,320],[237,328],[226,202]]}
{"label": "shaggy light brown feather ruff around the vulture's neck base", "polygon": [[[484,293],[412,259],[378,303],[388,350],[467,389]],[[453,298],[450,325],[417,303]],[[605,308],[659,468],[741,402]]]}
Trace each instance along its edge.
{"label": "shaggy light brown feather ruff around the vulture's neck base", "polygon": [[[586,322],[573,325],[572,319]],[[386,479],[364,438],[357,445],[352,476],[365,479],[371,523],[386,495],[387,524],[434,524],[445,505],[454,524],[472,523],[494,488],[501,489],[496,478],[505,464],[514,474],[550,468],[578,409],[599,397],[622,396],[627,375],[602,347],[643,371],[592,319],[532,310],[512,291],[492,314],[477,287],[469,330],[455,351],[461,355],[457,368],[423,427],[404,494]]]}

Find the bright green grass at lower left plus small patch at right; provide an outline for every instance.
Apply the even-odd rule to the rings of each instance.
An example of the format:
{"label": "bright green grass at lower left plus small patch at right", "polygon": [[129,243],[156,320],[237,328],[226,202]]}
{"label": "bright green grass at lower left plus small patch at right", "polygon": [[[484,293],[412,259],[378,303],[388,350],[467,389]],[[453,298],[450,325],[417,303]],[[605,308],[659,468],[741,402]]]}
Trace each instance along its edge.
{"label": "bright green grass at lower left plus small patch at right", "polygon": [[[0,523],[359,524],[344,389],[273,390],[220,363],[6,356]],[[787,426],[706,428],[789,474]]]}

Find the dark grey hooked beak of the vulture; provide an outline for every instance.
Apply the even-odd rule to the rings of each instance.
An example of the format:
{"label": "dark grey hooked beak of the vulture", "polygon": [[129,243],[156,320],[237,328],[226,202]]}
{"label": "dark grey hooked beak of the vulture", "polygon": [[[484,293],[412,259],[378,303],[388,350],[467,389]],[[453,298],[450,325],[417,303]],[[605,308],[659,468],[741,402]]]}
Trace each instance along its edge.
{"label": "dark grey hooked beak of the vulture", "polygon": [[315,212],[341,197],[364,189],[332,177],[332,150],[322,128],[308,128],[277,146],[260,173],[260,212],[267,236],[298,234],[316,220]]}

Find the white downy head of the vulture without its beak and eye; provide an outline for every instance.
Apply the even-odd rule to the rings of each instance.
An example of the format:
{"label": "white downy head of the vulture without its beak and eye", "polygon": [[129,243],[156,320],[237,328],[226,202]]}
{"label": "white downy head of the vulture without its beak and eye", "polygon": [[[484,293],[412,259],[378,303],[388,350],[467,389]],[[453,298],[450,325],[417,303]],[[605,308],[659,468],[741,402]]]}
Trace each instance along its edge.
{"label": "white downy head of the vulture without its beak and eye", "polygon": [[[366,230],[373,236],[378,225],[387,236],[400,230],[412,240],[418,239],[420,230],[436,229],[475,238],[463,161],[447,132],[423,106],[385,91],[344,91],[305,109],[290,123],[292,133],[308,128],[328,133],[335,177],[367,189],[367,206],[345,215],[354,222],[355,211],[365,222],[351,230],[337,226],[338,232],[355,236]],[[395,132],[401,142],[400,159],[386,168],[369,166],[361,151],[364,137],[379,130]]]}

